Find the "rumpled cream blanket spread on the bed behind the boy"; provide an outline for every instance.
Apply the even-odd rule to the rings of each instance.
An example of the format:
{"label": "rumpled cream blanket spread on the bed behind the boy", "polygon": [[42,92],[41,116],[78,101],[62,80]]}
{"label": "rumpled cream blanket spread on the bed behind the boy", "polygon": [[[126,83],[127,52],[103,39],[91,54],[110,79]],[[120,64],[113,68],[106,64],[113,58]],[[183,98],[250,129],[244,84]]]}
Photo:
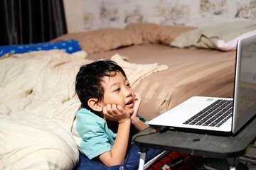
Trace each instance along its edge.
{"label": "rumpled cream blanket spread on the bed behind the boy", "polygon": [[[78,148],[70,130],[80,101],[75,75],[86,52],[38,51],[0,58],[0,169],[73,169]],[[114,55],[131,84],[167,69]]]}

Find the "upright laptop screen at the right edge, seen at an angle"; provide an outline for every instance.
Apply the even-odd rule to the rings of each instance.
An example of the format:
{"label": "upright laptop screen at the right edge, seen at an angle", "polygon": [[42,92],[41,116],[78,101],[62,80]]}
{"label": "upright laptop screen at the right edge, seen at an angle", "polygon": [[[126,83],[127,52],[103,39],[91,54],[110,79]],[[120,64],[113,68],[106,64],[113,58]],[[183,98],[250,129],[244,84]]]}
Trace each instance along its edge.
{"label": "upright laptop screen at the right edge, seen at an angle", "polygon": [[239,130],[256,113],[256,36],[238,42],[234,93],[233,132]]}

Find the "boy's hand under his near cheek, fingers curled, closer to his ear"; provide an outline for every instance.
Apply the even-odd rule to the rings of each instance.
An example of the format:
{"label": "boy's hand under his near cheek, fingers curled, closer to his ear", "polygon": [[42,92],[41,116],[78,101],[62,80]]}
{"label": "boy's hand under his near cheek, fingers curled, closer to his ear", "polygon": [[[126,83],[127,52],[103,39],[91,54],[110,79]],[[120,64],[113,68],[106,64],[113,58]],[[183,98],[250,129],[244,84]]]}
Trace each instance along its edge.
{"label": "boy's hand under his near cheek, fingers curled, closer to his ear", "polygon": [[103,114],[108,120],[118,123],[123,123],[126,120],[130,120],[129,113],[127,113],[122,106],[117,106],[115,104],[107,104],[107,106],[103,108]]}

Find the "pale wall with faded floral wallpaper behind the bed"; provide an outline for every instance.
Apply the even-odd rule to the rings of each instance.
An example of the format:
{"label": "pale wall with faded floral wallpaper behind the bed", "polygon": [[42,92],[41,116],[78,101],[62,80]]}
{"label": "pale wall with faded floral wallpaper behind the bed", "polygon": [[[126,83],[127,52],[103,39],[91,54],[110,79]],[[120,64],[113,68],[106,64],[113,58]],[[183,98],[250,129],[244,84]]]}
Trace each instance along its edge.
{"label": "pale wall with faded floral wallpaper behind the bed", "polygon": [[82,0],[84,29],[148,22],[174,26],[256,19],[256,0]]}

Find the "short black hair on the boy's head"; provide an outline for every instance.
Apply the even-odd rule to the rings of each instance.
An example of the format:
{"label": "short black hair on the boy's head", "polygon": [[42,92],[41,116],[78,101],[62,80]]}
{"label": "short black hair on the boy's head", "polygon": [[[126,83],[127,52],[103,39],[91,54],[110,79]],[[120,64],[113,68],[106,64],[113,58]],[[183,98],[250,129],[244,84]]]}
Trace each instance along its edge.
{"label": "short black hair on the boy's head", "polygon": [[114,77],[117,72],[121,72],[126,77],[122,67],[111,60],[99,60],[80,67],[75,80],[75,91],[82,103],[82,108],[90,110],[87,103],[90,98],[102,101],[104,95],[102,78]]}

